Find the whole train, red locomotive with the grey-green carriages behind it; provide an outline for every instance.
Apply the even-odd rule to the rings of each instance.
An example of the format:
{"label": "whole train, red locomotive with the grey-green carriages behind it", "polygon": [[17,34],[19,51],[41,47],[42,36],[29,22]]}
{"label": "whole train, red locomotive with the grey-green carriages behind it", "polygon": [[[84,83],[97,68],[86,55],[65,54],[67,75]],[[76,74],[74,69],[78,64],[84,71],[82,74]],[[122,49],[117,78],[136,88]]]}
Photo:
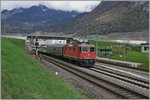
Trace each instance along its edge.
{"label": "whole train, red locomotive with the grey-green carriages behind it", "polygon": [[95,64],[95,46],[87,43],[45,44],[40,46],[38,51],[85,67],[92,67]]}

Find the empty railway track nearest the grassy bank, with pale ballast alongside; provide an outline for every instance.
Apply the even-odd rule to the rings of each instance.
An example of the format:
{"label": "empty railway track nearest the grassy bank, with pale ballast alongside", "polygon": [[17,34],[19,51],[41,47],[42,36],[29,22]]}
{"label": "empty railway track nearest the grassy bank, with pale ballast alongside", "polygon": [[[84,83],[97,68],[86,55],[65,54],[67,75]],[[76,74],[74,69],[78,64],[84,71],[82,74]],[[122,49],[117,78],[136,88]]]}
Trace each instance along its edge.
{"label": "empty railway track nearest the grassy bank, with pale ballast alongside", "polygon": [[[135,82],[136,84],[133,84],[133,80],[132,82],[130,82],[130,79],[128,79],[128,81],[125,81],[125,78],[124,80],[121,80],[121,76],[117,76],[115,74],[113,75],[112,73],[109,73],[108,75],[107,71],[106,72],[103,71],[103,73],[100,73],[99,72],[100,70],[97,68],[87,69],[87,68],[78,67],[76,65],[64,61],[60,61],[58,59],[43,54],[41,54],[41,58],[91,82],[92,84],[107,89],[108,91],[111,91],[116,95],[121,96],[121,98],[126,98],[126,99],[127,98],[128,99],[149,98],[149,94],[148,94],[149,89],[147,88],[147,86],[144,87],[142,83]],[[112,76],[110,77],[110,75],[113,75],[113,77]]]}

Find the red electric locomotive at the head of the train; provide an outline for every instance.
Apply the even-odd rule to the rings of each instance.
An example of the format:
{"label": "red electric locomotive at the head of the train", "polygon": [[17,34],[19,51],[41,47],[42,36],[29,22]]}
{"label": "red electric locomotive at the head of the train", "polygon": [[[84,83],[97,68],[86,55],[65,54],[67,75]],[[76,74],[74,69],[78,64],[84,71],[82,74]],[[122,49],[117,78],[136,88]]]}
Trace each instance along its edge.
{"label": "red electric locomotive at the head of the train", "polygon": [[63,58],[75,61],[82,66],[93,66],[95,64],[95,46],[80,43],[76,45],[65,45],[63,48]]}

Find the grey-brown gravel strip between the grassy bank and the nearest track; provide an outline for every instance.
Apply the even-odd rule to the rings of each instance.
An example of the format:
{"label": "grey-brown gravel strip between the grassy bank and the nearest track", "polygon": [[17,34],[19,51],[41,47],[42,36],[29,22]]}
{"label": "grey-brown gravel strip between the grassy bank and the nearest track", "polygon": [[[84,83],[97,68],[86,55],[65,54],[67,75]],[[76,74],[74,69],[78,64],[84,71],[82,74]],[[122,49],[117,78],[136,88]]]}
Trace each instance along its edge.
{"label": "grey-brown gravel strip between the grassy bank and the nearest track", "polygon": [[107,91],[103,87],[98,87],[46,60],[41,60],[41,63],[50,68],[58,77],[69,83],[81,93],[91,99],[120,99],[119,95]]}

